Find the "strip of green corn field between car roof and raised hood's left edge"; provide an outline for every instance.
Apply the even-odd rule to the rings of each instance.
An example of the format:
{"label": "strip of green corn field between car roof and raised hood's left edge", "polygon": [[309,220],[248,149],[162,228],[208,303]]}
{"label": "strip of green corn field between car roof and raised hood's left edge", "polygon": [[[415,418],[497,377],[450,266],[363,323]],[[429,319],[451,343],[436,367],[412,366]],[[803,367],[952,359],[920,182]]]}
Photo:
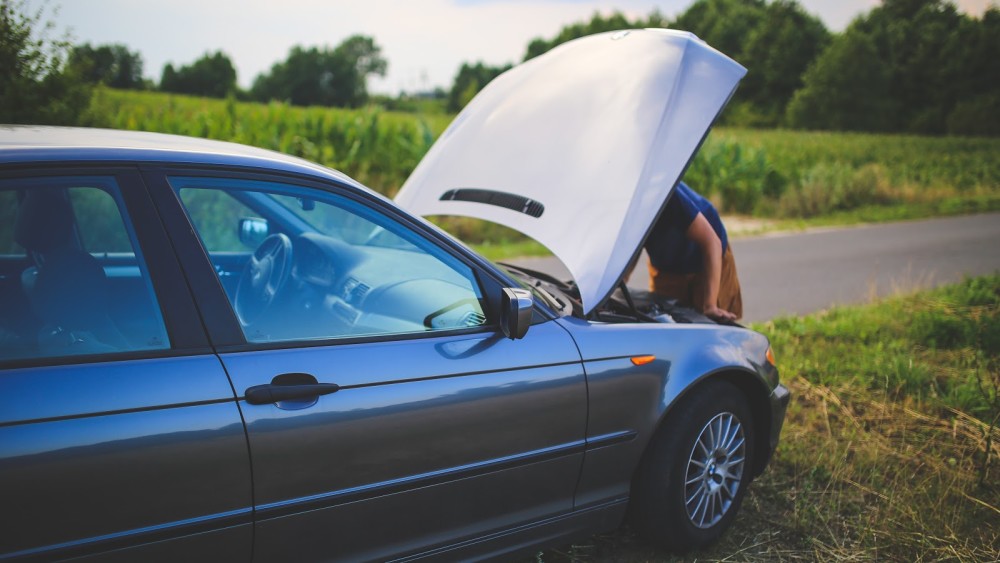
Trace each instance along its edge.
{"label": "strip of green corn field between car roof and raised hood's left edge", "polygon": [[98,89],[84,123],[233,141],[336,168],[392,195],[450,116],[301,108],[176,94]]}

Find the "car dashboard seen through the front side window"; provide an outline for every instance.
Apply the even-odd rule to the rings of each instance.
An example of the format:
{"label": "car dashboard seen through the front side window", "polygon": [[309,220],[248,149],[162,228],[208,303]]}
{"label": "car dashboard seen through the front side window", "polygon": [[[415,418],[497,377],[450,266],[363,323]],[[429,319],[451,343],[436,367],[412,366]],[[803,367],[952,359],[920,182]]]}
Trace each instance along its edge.
{"label": "car dashboard seen through the front side window", "polygon": [[[271,339],[336,338],[487,324],[471,270],[415,247],[353,245],[318,233],[292,239],[290,280],[260,323]],[[277,308],[277,309],[276,309]],[[275,310],[276,309],[276,310]]]}

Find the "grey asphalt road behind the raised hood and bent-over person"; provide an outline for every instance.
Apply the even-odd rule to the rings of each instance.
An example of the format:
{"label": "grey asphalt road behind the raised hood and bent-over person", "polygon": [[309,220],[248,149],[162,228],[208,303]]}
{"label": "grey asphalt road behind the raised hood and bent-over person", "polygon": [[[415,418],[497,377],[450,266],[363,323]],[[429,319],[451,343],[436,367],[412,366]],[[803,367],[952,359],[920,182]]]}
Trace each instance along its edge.
{"label": "grey asphalt road behind the raised hood and bent-over person", "polygon": [[[744,321],[764,321],[1000,271],[1000,213],[740,238],[732,247]],[[567,275],[553,258],[513,262]],[[643,287],[643,272],[629,286]]]}

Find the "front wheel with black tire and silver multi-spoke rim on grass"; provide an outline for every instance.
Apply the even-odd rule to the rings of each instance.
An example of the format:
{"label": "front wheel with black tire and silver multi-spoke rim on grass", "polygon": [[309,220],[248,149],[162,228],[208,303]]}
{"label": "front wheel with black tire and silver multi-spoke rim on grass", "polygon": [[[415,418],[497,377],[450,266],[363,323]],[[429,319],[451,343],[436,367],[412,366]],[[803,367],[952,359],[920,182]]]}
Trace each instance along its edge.
{"label": "front wheel with black tire and silver multi-spoke rim on grass", "polygon": [[751,480],[753,416],[740,390],[709,381],[671,412],[632,483],[630,517],[650,543],[683,553],[732,524]]}

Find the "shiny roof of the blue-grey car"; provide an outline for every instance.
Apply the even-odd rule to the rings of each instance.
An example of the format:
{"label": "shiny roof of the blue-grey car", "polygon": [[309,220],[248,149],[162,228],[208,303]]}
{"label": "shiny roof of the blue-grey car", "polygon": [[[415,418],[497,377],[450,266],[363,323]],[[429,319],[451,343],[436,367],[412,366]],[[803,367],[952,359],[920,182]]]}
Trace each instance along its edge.
{"label": "shiny roof of the blue-grey car", "polygon": [[140,131],[0,125],[0,164],[151,162],[261,168],[361,185],[313,162],[247,145]]}

